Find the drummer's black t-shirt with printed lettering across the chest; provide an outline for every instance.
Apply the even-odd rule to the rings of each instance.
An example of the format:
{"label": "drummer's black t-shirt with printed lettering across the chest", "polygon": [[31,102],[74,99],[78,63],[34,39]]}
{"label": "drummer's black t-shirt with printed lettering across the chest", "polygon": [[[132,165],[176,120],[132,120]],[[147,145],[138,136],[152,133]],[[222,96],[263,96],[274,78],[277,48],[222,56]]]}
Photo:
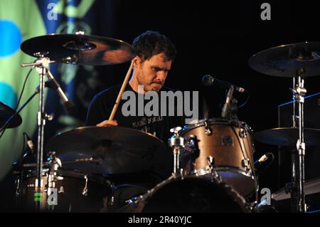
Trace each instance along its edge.
{"label": "drummer's black t-shirt with printed lettering across the chest", "polygon": [[[103,90],[101,93],[98,93],[97,95],[95,95],[92,102],[90,103],[90,107],[87,112],[87,120],[85,123],[86,126],[95,126],[98,123],[109,119],[114,106],[114,102],[115,100],[117,100],[117,95],[119,93],[120,88],[121,88],[121,85],[116,85],[112,88],[108,88],[107,90]],[[165,87],[161,89],[161,91],[170,91],[170,90],[171,89],[165,88]],[[117,108],[117,112],[114,115],[114,120],[117,120],[118,126],[129,127],[135,130],[142,130],[144,132],[149,132],[150,134],[153,134],[154,136],[161,139],[165,144],[167,144],[169,137],[171,137],[172,135],[172,133],[170,132],[171,128],[178,127],[178,126],[183,127],[184,125],[183,116],[176,116],[176,114],[174,116],[168,116],[168,114],[161,116],[161,95],[159,95],[159,109],[158,109],[159,115],[146,116],[143,111],[142,112],[143,115],[139,116],[138,107],[140,107],[140,112],[141,112],[142,107],[144,108],[144,106],[147,104],[147,102],[149,102],[149,100],[144,100],[144,105],[139,106],[138,93],[134,92],[134,90],[129,85],[129,83],[127,84],[124,92],[126,91],[130,91],[134,93],[135,102],[136,102],[136,115],[124,116],[124,114],[122,113],[122,105],[124,105],[124,103],[127,102],[129,98],[128,100],[120,100],[119,106]],[[171,90],[171,91],[174,92],[174,90]],[[124,96],[122,95],[122,97]],[[141,103],[141,97],[144,97],[144,95],[140,96],[140,103]],[[166,109],[168,111],[168,107],[166,107]],[[168,147],[168,149],[171,149],[171,148]],[[172,162],[171,157],[169,157],[169,159],[166,158],[166,160],[159,160],[159,165],[150,169],[148,172],[154,173],[160,176],[162,179],[165,179],[172,172],[171,162]],[[134,174],[134,175],[137,176],[141,181],[151,180],[151,177],[149,174]],[[142,179],[142,176],[144,176],[145,179]],[[157,181],[156,179],[153,179],[153,180]]]}

